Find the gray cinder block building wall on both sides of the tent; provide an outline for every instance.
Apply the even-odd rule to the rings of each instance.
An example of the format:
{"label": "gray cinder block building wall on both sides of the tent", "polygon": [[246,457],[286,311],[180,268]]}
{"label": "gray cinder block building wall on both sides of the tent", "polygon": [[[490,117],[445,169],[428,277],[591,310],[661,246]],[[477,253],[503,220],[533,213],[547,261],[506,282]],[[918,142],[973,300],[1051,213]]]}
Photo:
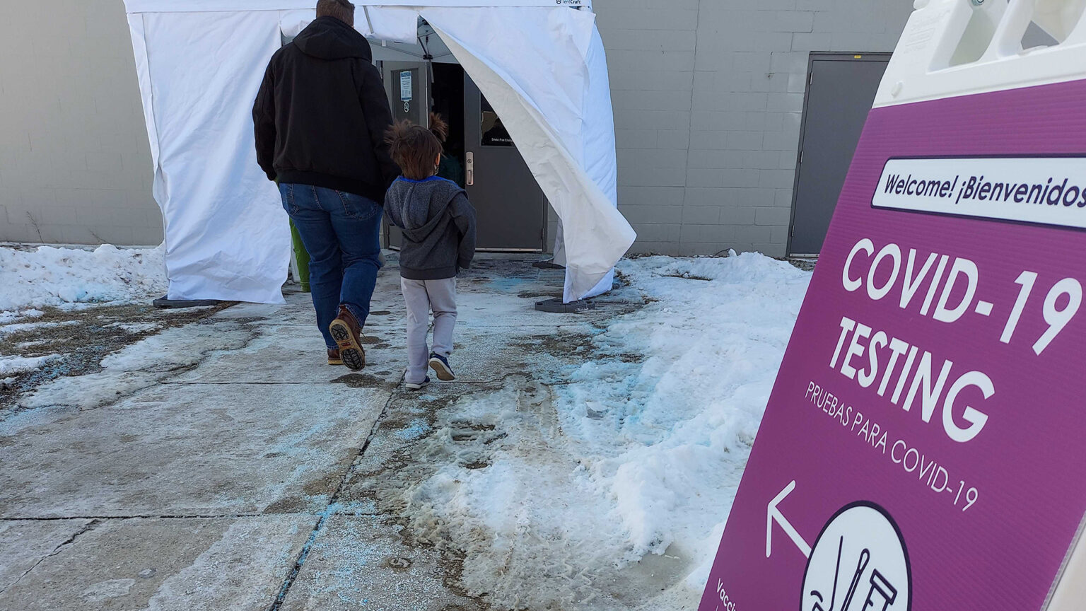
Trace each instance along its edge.
{"label": "gray cinder block building wall on both sides of the tent", "polygon": [[[809,52],[892,51],[912,2],[594,0],[594,8],[610,68],[619,202],[639,234],[633,251],[779,257]],[[161,241],[122,0],[20,2],[8,15],[0,241]]]}

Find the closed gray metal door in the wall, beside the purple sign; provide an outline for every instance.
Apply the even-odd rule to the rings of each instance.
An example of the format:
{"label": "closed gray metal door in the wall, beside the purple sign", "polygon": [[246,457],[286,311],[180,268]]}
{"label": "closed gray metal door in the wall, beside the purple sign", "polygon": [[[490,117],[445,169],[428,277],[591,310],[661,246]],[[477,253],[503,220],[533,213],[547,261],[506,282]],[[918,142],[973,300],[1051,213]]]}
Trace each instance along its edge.
{"label": "closed gray metal door in the wall, beside the purple sign", "polygon": [[822,250],[889,54],[811,54],[788,253]]}

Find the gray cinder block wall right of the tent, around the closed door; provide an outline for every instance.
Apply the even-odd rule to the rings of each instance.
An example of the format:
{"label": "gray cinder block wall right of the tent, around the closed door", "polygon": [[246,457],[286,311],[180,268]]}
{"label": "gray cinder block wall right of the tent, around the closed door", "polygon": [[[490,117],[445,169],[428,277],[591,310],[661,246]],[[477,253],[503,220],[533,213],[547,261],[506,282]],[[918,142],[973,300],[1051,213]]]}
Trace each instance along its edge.
{"label": "gray cinder block wall right of the tent, around the closed door", "polygon": [[807,62],[893,51],[911,0],[594,0],[635,252],[785,254]]}

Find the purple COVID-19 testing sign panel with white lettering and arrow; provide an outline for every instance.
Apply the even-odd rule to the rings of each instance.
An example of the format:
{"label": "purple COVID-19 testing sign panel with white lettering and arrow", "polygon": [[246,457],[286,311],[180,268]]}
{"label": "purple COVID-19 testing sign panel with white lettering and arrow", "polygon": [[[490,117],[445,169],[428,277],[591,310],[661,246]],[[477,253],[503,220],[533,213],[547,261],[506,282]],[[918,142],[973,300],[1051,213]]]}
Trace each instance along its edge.
{"label": "purple COVID-19 testing sign panel with white lettering and arrow", "polygon": [[871,112],[700,611],[1046,604],[1086,511],[1084,108]]}

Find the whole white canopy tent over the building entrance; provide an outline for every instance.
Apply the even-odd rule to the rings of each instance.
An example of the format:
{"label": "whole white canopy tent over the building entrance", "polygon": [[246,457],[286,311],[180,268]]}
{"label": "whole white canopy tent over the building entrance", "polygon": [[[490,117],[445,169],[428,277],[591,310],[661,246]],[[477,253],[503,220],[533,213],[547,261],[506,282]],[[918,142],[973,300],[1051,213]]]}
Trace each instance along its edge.
{"label": "whole white canopy tent over the building entrance", "polygon": [[[171,299],[282,301],[288,223],[256,165],[251,110],[268,59],[314,18],[315,4],[125,1]],[[588,1],[355,4],[355,27],[375,48],[415,43],[426,20],[502,116],[561,220],[564,299],[609,289],[635,236],[616,208],[607,65]]]}

